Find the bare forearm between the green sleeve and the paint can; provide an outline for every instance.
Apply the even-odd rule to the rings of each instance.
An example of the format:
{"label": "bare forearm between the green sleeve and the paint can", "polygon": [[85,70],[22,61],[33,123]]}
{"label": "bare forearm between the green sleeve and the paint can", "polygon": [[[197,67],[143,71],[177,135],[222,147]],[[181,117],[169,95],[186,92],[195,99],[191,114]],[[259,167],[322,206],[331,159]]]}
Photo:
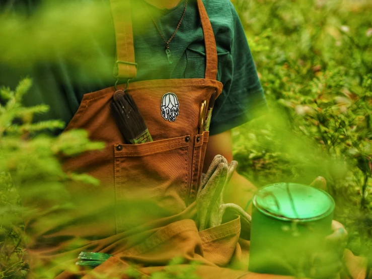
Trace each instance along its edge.
{"label": "bare forearm between the green sleeve and the paint can", "polygon": [[[222,155],[228,160],[233,161],[233,141],[231,130],[211,135],[205,153],[203,172],[206,173],[214,156]],[[248,201],[252,198],[256,187],[245,177],[235,172],[230,183],[224,190],[224,202],[236,203],[245,208]]]}

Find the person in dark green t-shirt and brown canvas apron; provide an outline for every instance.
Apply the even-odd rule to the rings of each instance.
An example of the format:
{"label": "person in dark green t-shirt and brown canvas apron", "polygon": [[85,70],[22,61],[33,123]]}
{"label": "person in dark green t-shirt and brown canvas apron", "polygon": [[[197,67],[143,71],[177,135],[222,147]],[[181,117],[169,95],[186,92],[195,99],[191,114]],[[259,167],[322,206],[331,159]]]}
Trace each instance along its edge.
{"label": "person in dark green t-shirt and brown canvas apron", "polygon": [[[195,222],[202,170],[207,172],[216,155],[232,161],[231,129],[267,109],[234,6],[228,0],[103,3],[104,40],[90,30],[74,59],[59,56],[56,46],[56,62],[41,62],[29,73],[34,87],[26,105],[46,103],[51,110],[43,117],[62,119],[68,123],[65,131],[84,128],[91,140],[106,144],[103,151],[64,158],[66,172],[84,171],[101,186],[67,185],[75,196],[76,207],[67,214],[73,219],[37,233],[27,228],[35,234],[28,247],[32,269],[50,265],[57,278],[77,273],[90,278],[89,270],[71,270],[66,262],[77,262],[80,252],[96,252],[113,255],[93,269],[110,277],[124,278],[129,262],[148,275],[177,256],[201,262],[196,272],[202,278],[263,276],[224,268],[249,250],[239,218],[204,230]],[[85,62],[86,53],[94,56],[93,63]],[[0,77],[12,72],[0,71]],[[12,79],[0,83],[12,86]],[[109,109],[116,92],[131,94],[153,142],[124,143]],[[169,93],[178,102],[172,121],[162,114],[162,98]],[[210,129],[200,130],[201,104],[207,106],[214,93]],[[231,175],[224,199],[245,205],[249,195],[243,199],[238,193],[254,186],[237,172]],[[95,214],[82,196],[92,198]],[[127,202],[135,200],[153,202],[146,204],[152,208],[145,210],[146,223],[130,217]]]}

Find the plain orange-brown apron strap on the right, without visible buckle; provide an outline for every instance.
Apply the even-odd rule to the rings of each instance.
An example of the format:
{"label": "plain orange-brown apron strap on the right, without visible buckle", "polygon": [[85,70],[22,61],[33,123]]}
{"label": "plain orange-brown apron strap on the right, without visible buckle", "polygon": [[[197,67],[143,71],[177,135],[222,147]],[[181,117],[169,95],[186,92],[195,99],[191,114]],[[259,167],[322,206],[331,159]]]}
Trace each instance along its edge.
{"label": "plain orange-brown apron strap on the right, without visible buckle", "polygon": [[203,29],[204,43],[205,43],[205,79],[217,79],[217,47],[214,39],[212,25],[210,24],[207,11],[205,10],[202,0],[198,1],[198,9],[201,20],[201,27]]}

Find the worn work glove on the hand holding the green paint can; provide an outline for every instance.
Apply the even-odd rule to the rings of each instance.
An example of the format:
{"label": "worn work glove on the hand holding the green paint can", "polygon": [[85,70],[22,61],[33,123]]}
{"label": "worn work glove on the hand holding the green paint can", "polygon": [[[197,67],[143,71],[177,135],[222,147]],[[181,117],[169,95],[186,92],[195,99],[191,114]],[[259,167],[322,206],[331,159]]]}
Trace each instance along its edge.
{"label": "worn work glove on the hand holding the green paint can", "polygon": [[[326,180],[319,176],[311,186],[326,190]],[[342,256],[346,248],[347,232],[341,223],[332,221],[332,234],[325,238],[325,251],[314,255],[310,275],[313,278],[337,278],[342,269]]]}

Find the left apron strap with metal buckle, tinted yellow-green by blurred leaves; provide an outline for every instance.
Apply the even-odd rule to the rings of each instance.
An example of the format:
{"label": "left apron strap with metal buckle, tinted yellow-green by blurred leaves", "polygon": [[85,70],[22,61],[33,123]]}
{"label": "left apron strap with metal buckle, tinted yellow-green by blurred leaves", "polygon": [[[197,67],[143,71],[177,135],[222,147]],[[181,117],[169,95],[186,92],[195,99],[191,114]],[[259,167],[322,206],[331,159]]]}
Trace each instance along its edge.
{"label": "left apron strap with metal buckle, tinted yellow-green by blurred leaves", "polygon": [[116,36],[116,62],[114,77],[131,80],[137,76],[134,60],[134,43],[130,0],[110,0]]}

